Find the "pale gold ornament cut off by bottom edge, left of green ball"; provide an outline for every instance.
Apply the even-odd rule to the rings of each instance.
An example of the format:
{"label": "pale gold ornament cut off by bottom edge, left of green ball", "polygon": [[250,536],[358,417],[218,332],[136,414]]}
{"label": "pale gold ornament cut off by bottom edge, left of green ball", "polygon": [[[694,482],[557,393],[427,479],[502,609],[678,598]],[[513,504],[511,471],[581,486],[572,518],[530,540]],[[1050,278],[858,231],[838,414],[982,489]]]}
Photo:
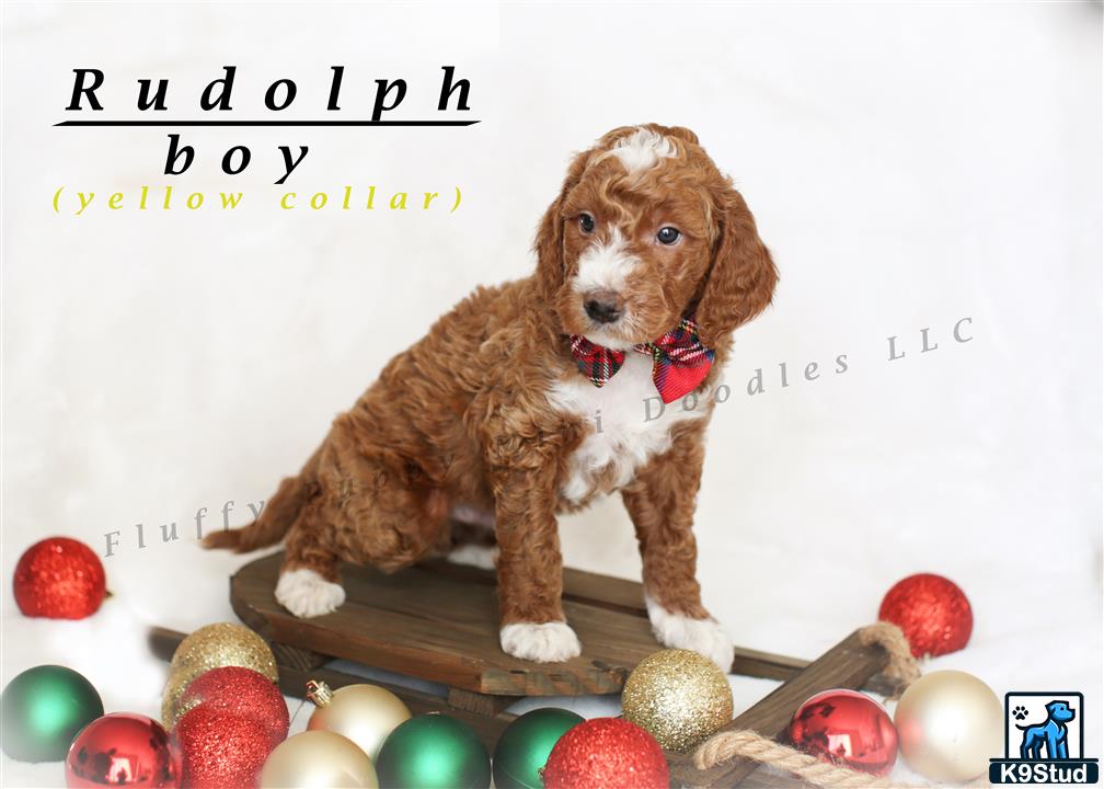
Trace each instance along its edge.
{"label": "pale gold ornament cut off by bottom edge, left of green ball", "polygon": [[259,789],[378,789],[368,754],[333,732],[301,732],[268,755]]}

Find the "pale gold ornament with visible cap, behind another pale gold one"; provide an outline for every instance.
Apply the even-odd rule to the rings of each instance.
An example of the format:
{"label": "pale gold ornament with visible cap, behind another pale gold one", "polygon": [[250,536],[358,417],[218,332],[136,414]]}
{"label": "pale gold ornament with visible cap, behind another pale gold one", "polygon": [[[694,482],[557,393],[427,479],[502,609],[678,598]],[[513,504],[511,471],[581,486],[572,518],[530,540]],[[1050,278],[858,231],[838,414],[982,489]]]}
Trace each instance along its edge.
{"label": "pale gold ornament with visible cap, behind another pale gold one", "polygon": [[325,682],[311,680],[307,683],[307,698],[318,707],[307,722],[308,730],[344,735],[372,761],[388,735],[411,717],[399,696],[378,685],[346,685],[331,691]]}

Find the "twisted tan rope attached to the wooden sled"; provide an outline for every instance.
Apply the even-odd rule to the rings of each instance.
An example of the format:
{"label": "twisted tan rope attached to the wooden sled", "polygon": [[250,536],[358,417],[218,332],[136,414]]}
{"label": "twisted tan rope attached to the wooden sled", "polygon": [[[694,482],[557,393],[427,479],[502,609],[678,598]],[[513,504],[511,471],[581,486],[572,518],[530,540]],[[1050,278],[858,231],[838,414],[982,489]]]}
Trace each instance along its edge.
{"label": "twisted tan rope attached to the wooden sled", "polygon": [[[890,662],[883,674],[898,681],[896,692],[890,698],[900,697],[901,693],[920,678],[920,665],[912,656],[909,641],[895,624],[878,622],[859,631],[859,641],[864,646],[881,646],[889,653]],[[807,783],[821,789],[926,789],[922,785],[891,783],[884,777],[872,776],[869,772],[852,770],[849,767],[824,761],[816,756],[804,754],[787,745],[776,743],[757,732],[741,729],[734,732],[718,732],[698,746],[693,761],[699,770],[708,770],[731,759],[749,759],[760,765],[767,765],[797,776]],[[989,786],[989,781],[978,779],[968,786]]]}

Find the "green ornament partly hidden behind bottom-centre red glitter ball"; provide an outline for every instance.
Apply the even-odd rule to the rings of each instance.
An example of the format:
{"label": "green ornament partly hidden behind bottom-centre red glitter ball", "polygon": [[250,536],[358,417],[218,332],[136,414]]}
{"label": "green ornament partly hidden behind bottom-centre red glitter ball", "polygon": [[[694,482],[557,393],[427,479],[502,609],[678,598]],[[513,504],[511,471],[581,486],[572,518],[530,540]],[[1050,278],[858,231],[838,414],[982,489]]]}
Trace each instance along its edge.
{"label": "green ornament partly hidden behind bottom-centre red glitter ball", "polygon": [[507,726],[495,746],[495,789],[543,789],[539,770],[556,741],[581,723],[583,717],[570,709],[544,707]]}

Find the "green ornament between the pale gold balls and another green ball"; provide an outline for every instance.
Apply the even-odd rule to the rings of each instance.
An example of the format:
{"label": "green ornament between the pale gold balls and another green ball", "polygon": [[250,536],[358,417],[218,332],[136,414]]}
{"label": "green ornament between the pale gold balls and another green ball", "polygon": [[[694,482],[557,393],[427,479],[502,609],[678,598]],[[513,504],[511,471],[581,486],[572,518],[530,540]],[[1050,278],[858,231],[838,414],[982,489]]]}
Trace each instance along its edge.
{"label": "green ornament between the pale gold balls and another green ball", "polygon": [[388,735],[375,760],[388,789],[488,789],[490,758],[476,733],[448,715],[417,715]]}

